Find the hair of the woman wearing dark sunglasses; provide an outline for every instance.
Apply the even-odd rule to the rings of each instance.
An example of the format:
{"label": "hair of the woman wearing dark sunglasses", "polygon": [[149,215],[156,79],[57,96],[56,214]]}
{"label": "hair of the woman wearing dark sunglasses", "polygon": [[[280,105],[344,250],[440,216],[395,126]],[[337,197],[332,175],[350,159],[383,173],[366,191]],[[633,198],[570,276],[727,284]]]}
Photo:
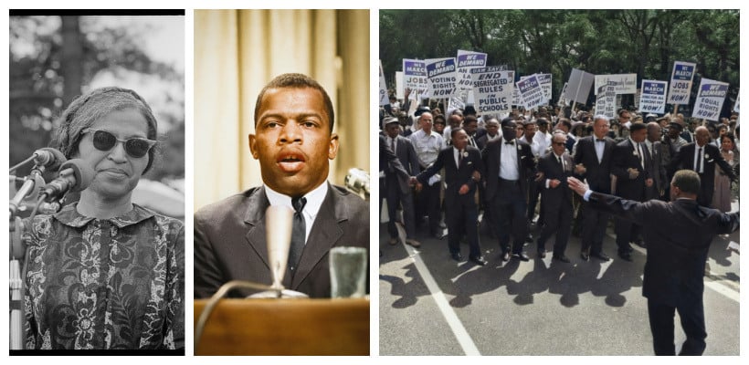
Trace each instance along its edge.
{"label": "hair of the woman wearing dark sunglasses", "polygon": [[[58,118],[58,130],[52,142],[53,147],[61,151],[70,159],[78,152],[83,130],[90,128],[113,111],[138,110],[146,121],[146,138],[157,140],[158,123],[148,103],[138,93],[131,89],[107,87],[90,90],[88,93],[74,99],[68,109]],[[148,172],[153,165],[158,143],[148,151],[148,164],[143,173]]]}

